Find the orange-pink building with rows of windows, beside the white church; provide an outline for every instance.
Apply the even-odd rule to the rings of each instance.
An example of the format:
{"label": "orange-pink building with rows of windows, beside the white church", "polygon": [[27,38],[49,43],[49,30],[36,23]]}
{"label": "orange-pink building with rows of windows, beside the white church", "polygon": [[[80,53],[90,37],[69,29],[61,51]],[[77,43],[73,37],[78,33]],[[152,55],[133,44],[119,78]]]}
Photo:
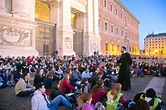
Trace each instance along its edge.
{"label": "orange-pink building with rows of windows, beside the white church", "polygon": [[119,0],[98,1],[102,53],[121,54],[120,48],[123,45],[131,54],[139,54],[137,18]]}

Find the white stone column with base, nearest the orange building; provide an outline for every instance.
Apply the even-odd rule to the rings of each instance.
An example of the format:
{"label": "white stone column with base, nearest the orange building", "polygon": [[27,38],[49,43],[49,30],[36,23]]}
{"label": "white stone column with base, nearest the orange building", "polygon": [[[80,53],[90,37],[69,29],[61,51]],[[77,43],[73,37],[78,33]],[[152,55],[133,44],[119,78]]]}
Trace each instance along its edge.
{"label": "white stone column with base, nearest the orange building", "polygon": [[[94,51],[101,52],[101,39],[98,31],[98,1],[87,0],[86,7],[86,32],[84,33],[84,48],[85,55],[92,55]],[[85,21],[85,20],[84,20]]]}

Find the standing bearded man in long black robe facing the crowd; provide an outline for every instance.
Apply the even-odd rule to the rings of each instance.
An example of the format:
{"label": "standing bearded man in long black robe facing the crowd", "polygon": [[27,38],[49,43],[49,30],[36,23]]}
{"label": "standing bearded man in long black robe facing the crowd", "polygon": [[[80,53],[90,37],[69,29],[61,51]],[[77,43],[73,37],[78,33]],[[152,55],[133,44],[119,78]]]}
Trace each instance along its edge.
{"label": "standing bearded man in long black robe facing the crowd", "polygon": [[120,63],[120,70],[117,82],[122,85],[122,90],[127,91],[131,89],[130,65],[132,64],[132,59],[130,54],[126,51],[126,47],[122,46],[121,52],[120,60],[118,60],[118,63]]}

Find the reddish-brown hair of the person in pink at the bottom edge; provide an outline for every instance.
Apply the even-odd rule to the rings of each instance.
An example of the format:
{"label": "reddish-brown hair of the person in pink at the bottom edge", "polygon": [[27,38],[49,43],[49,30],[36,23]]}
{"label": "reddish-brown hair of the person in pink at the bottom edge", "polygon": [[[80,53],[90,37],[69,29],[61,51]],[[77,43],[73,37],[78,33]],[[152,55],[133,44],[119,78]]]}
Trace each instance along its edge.
{"label": "reddish-brown hair of the person in pink at the bottom edge", "polygon": [[86,101],[89,101],[90,99],[92,98],[92,95],[90,93],[83,93],[82,95],[80,95],[78,98],[77,98],[77,101],[78,101],[78,105],[80,107],[82,107],[82,105],[84,103],[86,103]]}

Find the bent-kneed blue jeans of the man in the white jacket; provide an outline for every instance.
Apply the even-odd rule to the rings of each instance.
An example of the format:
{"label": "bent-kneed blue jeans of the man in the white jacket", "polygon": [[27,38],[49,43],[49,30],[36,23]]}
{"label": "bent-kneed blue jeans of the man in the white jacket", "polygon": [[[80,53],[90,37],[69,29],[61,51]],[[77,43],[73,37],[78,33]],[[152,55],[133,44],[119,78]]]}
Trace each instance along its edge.
{"label": "bent-kneed blue jeans of the man in the white jacket", "polygon": [[56,110],[58,108],[59,103],[63,103],[67,107],[72,107],[72,104],[62,95],[58,95],[50,102],[49,110]]}

